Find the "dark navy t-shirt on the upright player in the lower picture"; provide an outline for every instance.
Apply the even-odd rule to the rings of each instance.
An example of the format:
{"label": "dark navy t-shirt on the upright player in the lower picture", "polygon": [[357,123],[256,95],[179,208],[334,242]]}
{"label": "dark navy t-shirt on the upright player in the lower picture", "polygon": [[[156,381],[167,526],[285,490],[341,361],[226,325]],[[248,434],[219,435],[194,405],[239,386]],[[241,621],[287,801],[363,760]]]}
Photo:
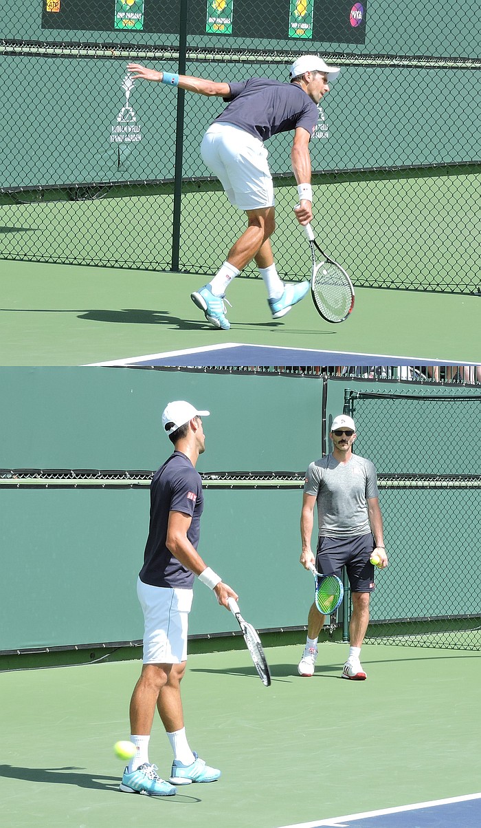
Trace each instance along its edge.
{"label": "dark navy t-shirt on the upright player in the lower picture", "polygon": [[182,451],[174,451],[154,474],[150,484],[149,537],[145,544],[140,580],[151,586],[190,590],[194,574],[182,566],[165,546],[170,512],[190,515],[187,537],[197,549],[204,506],[202,479]]}

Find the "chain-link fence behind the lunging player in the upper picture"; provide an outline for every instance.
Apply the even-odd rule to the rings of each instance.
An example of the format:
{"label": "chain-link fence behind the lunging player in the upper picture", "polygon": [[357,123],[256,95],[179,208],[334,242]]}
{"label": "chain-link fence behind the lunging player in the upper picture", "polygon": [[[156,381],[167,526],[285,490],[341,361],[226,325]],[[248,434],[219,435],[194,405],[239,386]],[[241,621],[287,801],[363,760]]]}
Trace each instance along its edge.
{"label": "chain-link fence behind the lunging player in the upper picture", "polygon": [[[134,84],[126,64],[287,81],[316,51],[341,65],[311,142],[323,245],[358,286],[478,293],[477,14],[474,0],[442,14],[416,0],[402,13],[393,0],[18,0],[0,41],[0,257],[212,275],[245,226],[199,153],[224,104]],[[291,142],[267,146],[274,252],[296,279],[309,255]]]}

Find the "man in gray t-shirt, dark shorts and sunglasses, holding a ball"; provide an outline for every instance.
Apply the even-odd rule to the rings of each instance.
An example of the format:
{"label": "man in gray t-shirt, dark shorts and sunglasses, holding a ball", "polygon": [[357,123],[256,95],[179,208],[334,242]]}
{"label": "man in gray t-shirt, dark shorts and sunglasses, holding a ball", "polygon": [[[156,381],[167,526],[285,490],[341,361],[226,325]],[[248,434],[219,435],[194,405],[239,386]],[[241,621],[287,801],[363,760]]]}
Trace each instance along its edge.
{"label": "man in gray t-shirt, dark shorts and sunglasses, holding a ball", "polygon": [[[379,508],[376,469],[370,460],[354,455],[355,423],[341,414],[332,422],[332,452],[307,469],[302,498],[302,566],[314,565],[323,575],[341,576],[345,566],[352,593],[350,652],[342,677],[363,681],[360,649],[369,623],[369,598],[374,590],[374,566],[370,556],[379,556],[379,567],[388,566],[383,546],[383,517]],[[311,550],[314,507],[317,505],[317,556]],[[309,610],[307,641],[298,664],[300,676],[312,676],[317,658],[317,638],[324,615],[316,604]]]}

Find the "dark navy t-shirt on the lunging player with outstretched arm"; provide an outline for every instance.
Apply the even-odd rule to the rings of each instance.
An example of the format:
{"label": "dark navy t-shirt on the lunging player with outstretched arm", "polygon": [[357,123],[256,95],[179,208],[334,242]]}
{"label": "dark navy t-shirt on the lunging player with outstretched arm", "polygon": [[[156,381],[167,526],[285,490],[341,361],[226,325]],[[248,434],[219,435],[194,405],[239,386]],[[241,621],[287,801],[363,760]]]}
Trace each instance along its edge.
{"label": "dark navy t-shirt on the lunging player with outstretched arm", "polygon": [[303,127],[310,135],[314,132],[317,106],[298,84],[250,78],[229,86],[231,94],[224,98],[229,103],[216,121],[234,123],[262,141],[297,127]]}

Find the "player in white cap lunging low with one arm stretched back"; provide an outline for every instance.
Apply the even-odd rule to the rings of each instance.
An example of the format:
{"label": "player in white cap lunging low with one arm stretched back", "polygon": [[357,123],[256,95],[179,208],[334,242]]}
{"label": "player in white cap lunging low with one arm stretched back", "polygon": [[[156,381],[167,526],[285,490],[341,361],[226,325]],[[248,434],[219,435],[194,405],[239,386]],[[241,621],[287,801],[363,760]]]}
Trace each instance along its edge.
{"label": "player in white cap lunging low with one arm stretched back", "polygon": [[289,70],[290,83],[268,78],[217,83],[136,63],[127,69],[134,78],[217,96],[227,103],[207,129],[201,155],[221,181],[231,204],[245,211],[247,229],[232,245],[212,281],[194,291],[191,298],[214,328],[229,330],[226,289],[255,259],[267,288],[270,312],[274,319],[280,319],[306,296],[309,284],[283,284],[275,267],[270,244],[275,229],[274,185],[264,142],[279,132],[293,131],[291,164],[298,182],[295,216],[299,224],[308,224],[312,220],[309,142],[317,124],[317,105],[340,70],[328,66],[318,55],[298,57]]}

